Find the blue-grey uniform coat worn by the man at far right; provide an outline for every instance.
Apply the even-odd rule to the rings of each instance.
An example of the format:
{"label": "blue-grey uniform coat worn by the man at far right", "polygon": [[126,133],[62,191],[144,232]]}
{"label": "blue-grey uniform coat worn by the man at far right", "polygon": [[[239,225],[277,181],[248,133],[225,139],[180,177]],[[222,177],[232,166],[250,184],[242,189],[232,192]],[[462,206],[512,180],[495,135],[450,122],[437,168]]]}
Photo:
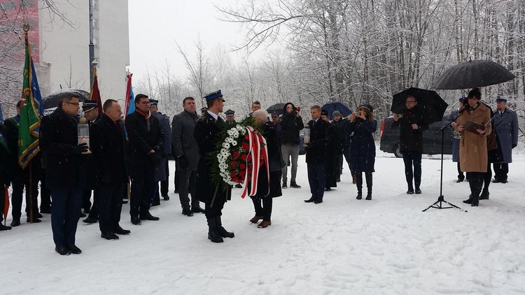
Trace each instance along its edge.
{"label": "blue-grey uniform coat worn by the man at far right", "polygon": [[494,110],[494,128],[499,139],[503,161],[500,163],[512,163],[512,148],[518,144],[518,117],[516,113],[505,108],[503,115]]}

